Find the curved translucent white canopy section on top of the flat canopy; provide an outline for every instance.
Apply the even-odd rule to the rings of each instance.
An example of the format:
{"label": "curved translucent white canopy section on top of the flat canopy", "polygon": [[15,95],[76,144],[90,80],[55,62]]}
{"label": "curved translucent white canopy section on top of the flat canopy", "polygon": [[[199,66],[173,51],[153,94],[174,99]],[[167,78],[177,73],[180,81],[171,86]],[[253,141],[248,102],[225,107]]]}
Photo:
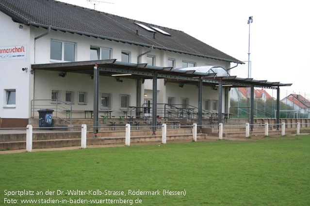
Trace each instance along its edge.
{"label": "curved translucent white canopy section on top of the flat canopy", "polygon": [[[180,68],[179,70],[183,71],[195,71],[195,73],[205,73],[205,74],[215,74],[215,77],[229,77],[229,73],[222,66],[197,66],[197,67],[186,67]],[[195,74],[194,73],[194,74]]]}

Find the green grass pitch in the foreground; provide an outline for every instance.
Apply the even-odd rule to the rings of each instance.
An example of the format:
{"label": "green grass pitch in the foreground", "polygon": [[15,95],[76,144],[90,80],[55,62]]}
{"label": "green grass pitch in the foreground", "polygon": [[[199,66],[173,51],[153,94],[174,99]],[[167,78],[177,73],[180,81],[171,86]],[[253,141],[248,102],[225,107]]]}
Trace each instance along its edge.
{"label": "green grass pitch in the foreground", "polygon": [[[309,135],[7,154],[0,155],[0,168],[0,205],[9,205],[4,198],[15,199],[15,205],[38,205],[21,200],[49,198],[121,198],[141,206],[310,205]],[[124,191],[126,196],[65,194],[97,189]],[[8,195],[17,190],[43,191],[43,195]],[[54,195],[46,195],[47,190]],[[64,194],[57,195],[57,190]],[[132,195],[128,190],[159,190],[161,195]],[[186,194],[163,196],[163,190]],[[135,204],[137,198],[142,203]]]}

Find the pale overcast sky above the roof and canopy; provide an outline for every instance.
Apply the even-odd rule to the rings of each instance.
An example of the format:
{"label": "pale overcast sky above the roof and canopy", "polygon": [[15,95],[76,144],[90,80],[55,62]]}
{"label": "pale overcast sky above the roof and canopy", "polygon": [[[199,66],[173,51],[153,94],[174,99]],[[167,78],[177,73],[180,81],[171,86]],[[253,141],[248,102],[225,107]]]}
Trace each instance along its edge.
{"label": "pale overcast sky above the roof and canopy", "polygon": [[[92,9],[98,3],[61,1]],[[248,59],[247,20],[253,16],[252,78],[293,83],[283,89],[310,94],[309,0],[102,1],[114,4],[100,2],[96,10],[181,30],[241,61]],[[247,65],[231,74],[246,78]]]}

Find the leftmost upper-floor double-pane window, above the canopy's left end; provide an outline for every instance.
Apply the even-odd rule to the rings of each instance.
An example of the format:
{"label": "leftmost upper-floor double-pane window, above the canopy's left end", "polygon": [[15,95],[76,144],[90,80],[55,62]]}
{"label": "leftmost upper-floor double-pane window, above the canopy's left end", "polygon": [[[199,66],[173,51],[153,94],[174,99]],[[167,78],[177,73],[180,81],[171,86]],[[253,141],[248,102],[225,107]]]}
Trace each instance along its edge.
{"label": "leftmost upper-floor double-pane window, above the canopy's left end", "polygon": [[50,60],[62,62],[75,61],[75,43],[50,40]]}

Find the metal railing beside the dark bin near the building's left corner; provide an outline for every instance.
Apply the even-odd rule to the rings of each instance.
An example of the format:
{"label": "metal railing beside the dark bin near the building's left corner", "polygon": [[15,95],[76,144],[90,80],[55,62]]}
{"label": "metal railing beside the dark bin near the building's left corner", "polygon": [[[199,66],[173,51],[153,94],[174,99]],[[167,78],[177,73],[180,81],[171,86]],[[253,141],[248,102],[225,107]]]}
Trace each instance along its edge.
{"label": "metal railing beside the dark bin near the building's left corner", "polygon": [[[35,113],[41,109],[54,110],[56,118],[59,118],[65,122],[72,124],[72,105],[59,99],[33,99],[31,100],[31,118],[39,117],[35,116]],[[69,121],[67,120],[69,115]]]}

